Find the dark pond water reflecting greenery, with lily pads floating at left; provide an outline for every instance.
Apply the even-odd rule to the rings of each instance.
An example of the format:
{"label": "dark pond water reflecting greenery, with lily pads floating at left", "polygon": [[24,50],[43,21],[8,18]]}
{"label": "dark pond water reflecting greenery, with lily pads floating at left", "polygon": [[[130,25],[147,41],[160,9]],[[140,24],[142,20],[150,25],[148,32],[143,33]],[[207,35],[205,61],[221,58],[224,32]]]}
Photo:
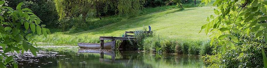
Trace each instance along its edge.
{"label": "dark pond water reflecting greenery, with lily pads floating at left", "polygon": [[139,51],[79,49],[76,46],[38,46],[16,55],[19,68],[202,68],[199,56],[144,53]]}

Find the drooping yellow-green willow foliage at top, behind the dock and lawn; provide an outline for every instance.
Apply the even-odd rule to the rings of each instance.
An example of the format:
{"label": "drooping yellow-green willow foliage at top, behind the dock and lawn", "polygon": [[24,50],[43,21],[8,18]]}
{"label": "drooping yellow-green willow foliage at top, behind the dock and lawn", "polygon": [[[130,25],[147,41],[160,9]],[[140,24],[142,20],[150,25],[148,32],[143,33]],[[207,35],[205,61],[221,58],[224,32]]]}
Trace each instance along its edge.
{"label": "drooping yellow-green willow foliage at top, behind the dock and lawn", "polygon": [[[95,11],[97,17],[100,17],[100,12],[109,10],[119,14],[138,13],[143,8],[144,0],[55,0],[59,19],[78,17],[83,15],[83,20],[89,11]],[[80,11],[77,11],[80,10]]]}

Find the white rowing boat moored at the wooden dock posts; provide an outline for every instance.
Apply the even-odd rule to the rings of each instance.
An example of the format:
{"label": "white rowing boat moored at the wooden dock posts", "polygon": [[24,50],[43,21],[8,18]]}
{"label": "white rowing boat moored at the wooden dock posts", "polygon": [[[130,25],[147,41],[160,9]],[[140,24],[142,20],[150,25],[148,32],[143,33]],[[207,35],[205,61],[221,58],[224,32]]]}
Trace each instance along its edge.
{"label": "white rowing boat moored at the wooden dock posts", "polygon": [[[105,49],[110,49],[111,48],[112,42],[106,42],[104,43],[104,48]],[[78,46],[80,48],[95,48],[95,49],[100,49],[100,43],[78,43]]]}

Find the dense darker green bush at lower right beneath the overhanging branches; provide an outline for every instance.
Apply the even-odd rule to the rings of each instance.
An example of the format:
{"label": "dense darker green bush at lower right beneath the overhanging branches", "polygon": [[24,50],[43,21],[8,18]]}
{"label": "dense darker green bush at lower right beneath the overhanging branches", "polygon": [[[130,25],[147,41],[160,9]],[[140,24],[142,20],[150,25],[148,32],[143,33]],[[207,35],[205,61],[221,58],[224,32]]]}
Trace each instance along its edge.
{"label": "dense darker green bush at lower right beneath the overhanging branches", "polygon": [[[263,37],[253,39],[255,36],[242,35],[241,40],[235,44],[235,49],[226,46],[225,53],[216,53],[215,55],[207,55],[205,63],[207,67],[222,68],[263,68],[262,50],[267,51],[267,46]],[[215,46],[218,46],[215,45]],[[218,49],[220,50],[220,49]]]}

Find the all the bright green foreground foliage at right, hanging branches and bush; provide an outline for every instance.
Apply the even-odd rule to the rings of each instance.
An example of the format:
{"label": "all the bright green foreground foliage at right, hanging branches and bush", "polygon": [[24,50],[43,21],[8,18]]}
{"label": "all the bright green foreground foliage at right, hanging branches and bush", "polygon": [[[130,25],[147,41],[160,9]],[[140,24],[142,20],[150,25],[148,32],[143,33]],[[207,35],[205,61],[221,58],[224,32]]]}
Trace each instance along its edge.
{"label": "all the bright green foreground foliage at right, hanging branches and bush", "polygon": [[218,16],[211,15],[201,27],[206,34],[212,33],[210,44],[218,47],[215,55],[205,57],[207,67],[267,67],[267,1],[216,0],[213,6]]}

